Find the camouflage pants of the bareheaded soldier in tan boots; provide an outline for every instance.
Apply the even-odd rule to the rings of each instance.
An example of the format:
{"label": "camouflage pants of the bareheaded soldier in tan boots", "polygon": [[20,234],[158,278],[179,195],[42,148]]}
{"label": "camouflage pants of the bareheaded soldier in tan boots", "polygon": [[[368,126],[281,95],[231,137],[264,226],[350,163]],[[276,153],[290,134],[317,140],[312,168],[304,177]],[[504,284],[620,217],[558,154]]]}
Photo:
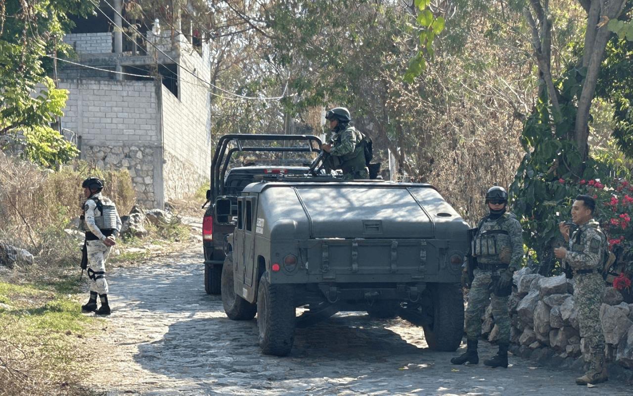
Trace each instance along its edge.
{"label": "camouflage pants of the bareheaded soldier in tan boots", "polygon": [[605,364],[605,335],[600,323],[600,306],[605,293],[605,281],[600,274],[574,274],[573,299],[578,307],[580,336],[585,339],[584,360],[590,370],[602,371]]}

